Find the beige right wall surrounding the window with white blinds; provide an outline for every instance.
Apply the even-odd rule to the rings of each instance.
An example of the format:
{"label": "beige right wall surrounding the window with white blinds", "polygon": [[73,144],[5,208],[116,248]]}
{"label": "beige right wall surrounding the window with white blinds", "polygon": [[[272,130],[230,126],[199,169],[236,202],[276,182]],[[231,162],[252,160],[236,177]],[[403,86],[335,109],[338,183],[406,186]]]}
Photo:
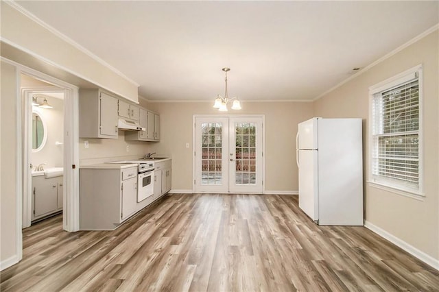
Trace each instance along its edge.
{"label": "beige right wall surrounding the window with white blinds", "polygon": [[[418,201],[366,184],[365,206],[368,222],[436,259],[439,259],[438,39],[439,32],[436,30],[314,103],[315,114],[319,117],[363,118],[366,147],[368,145],[369,86],[418,64],[423,64],[425,198]],[[364,155],[364,165],[366,169],[364,178],[367,179],[367,152]]]}

